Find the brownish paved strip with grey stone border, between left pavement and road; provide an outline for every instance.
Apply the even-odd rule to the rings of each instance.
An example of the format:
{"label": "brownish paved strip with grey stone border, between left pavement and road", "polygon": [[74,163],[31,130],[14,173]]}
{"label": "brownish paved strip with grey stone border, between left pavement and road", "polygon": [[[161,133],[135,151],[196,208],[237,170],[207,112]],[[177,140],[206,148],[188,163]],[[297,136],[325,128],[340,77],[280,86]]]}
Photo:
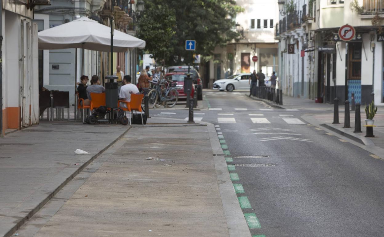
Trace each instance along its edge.
{"label": "brownish paved strip with grey stone border, between left pavement and road", "polygon": [[250,237],[213,124],[131,128],[67,186],[19,236]]}

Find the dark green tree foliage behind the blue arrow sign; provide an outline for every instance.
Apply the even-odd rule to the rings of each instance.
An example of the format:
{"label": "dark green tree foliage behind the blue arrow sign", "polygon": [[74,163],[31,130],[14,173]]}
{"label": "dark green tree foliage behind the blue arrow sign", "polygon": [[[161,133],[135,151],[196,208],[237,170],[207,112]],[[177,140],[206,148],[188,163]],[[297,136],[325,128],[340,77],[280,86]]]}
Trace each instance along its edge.
{"label": "dark green tree foliage behind the blue arrow sign", "polygon": [[[174,25],[169,24],[164,15],[148,15],[148,12],[156,12],[158,8],[167,8],[169,17],[175,19]],[[212,55],[215,47],[224,46],[239,37],[234,30],[234,19],[243,9],[234,0],[146,0],[144,9],[144,15],[139,20],[139,37],[146,40],[149,53],[159,55],[156,45],[164,44],[163,38],[157,38],[156,35],[168,27],[174,32],[167,41],[169,46],[165,47],[167,65],[179,65],[182,58],[184,63],[192,62],[191,52],[185,50],[185,40],[196,40],[194,53],[204,57]],[[149,29],[151,32],[142,34],[142,31]],[[154,42],[149,42],[151,40]],[[155,58],[163,59],[161,55]]]}

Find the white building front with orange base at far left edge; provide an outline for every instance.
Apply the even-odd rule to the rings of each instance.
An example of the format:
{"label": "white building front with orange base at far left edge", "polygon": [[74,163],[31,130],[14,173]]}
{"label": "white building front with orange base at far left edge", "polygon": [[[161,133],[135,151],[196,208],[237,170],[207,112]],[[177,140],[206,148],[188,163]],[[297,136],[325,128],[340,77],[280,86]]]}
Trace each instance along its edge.
{"label": "white building front with orange base at far left edge", "polygon": [[[41,1],[40,4],[49,4]],[[0,9],[0,129],[38,123],[37,25],[34,1],[2,0]]]}

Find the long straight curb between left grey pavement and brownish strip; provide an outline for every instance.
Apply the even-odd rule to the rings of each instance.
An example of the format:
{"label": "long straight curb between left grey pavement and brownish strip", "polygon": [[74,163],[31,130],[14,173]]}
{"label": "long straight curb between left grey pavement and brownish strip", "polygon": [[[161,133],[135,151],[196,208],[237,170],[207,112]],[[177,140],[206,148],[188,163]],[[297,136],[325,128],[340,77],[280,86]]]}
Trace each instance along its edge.
{"label": "long straight curb between left grey pavement and brownish strip", "polygon": [[8,230],[3,237],[10,237],[12,236],[13,232],[15,232],[17,229],[20,228],[28,219],[30,219],[33,215],[38,212],[52,197],[56,195],[57,192],[59,192],[68,182],[70,182],[79,172],[81,172],[85,167],[87,167],[94,159],[96,159],[98,156],[100,156],[106,149],[110,148],[114,143],[116,143],[120,138],[122,138],[132,127],[129,126],[129,128],[124,131],[118,138],[112,141],[108,146],[105,148],[101,149],[97,154],[92,156],[88,161],[84,162],[79,168],[74,171],[68,178],[65,179],[58,187],[55,188],[53,192],[51,192],[43,201],[41,201],[35,208],[31,209],[28,214],[26,214],[22,219],[20,219],[18,222],[15,222],[15,225]]}

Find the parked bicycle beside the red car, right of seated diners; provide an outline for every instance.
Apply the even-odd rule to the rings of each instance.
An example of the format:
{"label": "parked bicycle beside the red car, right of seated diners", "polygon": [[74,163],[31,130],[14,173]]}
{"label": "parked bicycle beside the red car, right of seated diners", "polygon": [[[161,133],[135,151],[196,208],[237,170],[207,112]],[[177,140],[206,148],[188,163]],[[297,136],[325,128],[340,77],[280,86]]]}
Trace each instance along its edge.
{"label": "parked bicycle beside the red car, right of seated diners", "polygon": [[159,83],[150,81],[154,84],[154,88],[148,92],[149,108],[154,108],[155,106],[159,108],[162,105],[172,108],[179,99],[177,89],[171,85],[173,81],[167,79],[158,81]]}

